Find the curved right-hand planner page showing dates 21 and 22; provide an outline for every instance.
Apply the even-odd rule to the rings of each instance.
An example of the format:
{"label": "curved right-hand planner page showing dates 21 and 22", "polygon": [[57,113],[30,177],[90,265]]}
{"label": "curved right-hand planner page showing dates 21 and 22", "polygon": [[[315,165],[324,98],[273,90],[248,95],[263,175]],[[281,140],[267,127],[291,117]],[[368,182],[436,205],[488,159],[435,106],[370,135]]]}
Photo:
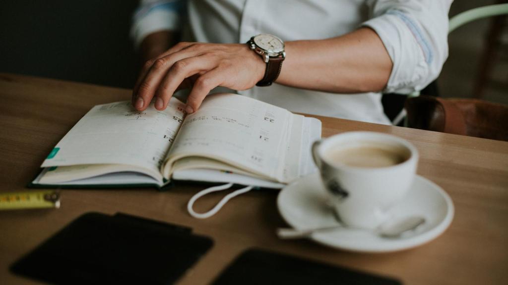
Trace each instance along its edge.
{"label": "curved right-hand planner page showing dates 21 and 22", "polygon": [[180,157],[205,156],[281,181],[292,116],[245,96],[208,95],[199,111],[185,118],[164,176],[169,178],[172,162]]}

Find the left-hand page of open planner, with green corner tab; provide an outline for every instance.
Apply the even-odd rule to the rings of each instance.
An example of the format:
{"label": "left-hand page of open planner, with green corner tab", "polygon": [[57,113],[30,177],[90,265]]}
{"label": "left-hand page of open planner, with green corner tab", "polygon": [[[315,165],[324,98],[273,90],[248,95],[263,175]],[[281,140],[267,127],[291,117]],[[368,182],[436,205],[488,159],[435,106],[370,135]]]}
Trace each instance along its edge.
{"label": "left-hand page of open planner, with green corner tab", "polygon": [[183,122],[184,104],[142,112],[130,101],[94,106],[55,146],[42,167],[131,164],[158,171]]}

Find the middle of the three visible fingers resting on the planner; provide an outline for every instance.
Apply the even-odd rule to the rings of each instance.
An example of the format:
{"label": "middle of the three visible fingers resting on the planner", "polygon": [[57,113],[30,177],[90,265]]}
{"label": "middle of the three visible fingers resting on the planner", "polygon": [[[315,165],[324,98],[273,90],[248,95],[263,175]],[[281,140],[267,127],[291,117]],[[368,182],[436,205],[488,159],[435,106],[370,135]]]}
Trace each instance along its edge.
{"label": "middle of the three visible fingers resting on the planner", "polygon": [[[209,55],[189,57],[175,62],[155,92],[155,109],[166,109],[171,96],[179,87],[189,87],[186,78],[205,73],[215,67],[215,60]],[[195,82],[197,82],[196,79]],[[187,80],[188,81],[188,80]],[[186,85],[186,86],[185,86]],[[215,87],[215,86],[214,86]],[[213,87],[212,87],[213,88]]]}

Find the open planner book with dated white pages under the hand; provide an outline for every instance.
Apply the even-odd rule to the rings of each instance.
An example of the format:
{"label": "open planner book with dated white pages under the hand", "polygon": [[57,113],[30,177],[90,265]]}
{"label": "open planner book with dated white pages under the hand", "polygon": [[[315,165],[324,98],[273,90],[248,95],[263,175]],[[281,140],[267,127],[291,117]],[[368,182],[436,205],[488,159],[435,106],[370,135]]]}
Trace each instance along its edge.
{"label": "open planner book with dated white pages under the hand", "polygon": [[249,97],[208,95],[198,112],[171,98],[145,111],[94,106],[55,146],[34,187],[163,187],[174,180],[281,188],[315,170],[321,122]]}

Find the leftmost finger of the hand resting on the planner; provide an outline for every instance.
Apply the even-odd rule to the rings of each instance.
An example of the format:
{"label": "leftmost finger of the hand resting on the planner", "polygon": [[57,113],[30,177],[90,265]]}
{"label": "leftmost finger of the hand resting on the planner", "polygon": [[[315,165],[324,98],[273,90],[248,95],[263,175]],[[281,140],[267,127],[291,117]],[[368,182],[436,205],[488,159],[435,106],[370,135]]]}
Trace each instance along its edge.
{"label": "leftmost finger of the hand resting on the planner", "polygon": [[190,53],[192,53],[192,51],[179,51],[192,45],[193,43],[179,43],[158,58],[145,63],[133,89],[132,103],[136,109],[142,111],[148,106],[148,103],[153,97],[155,87],[166,74],[167,69],[172,66],[174,62],[188,57]]}

